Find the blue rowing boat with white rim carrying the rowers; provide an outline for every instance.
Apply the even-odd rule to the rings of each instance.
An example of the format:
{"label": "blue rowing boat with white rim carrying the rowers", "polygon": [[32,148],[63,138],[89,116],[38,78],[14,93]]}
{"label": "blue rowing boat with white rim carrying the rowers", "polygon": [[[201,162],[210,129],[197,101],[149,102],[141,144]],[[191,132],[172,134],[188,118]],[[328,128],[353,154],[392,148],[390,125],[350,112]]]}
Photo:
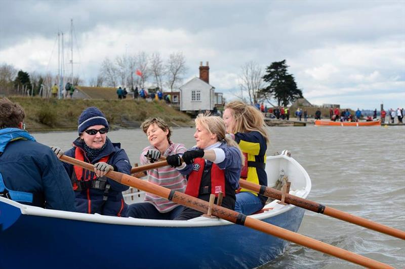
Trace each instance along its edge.
{"label": "blue rowing boat with white rim carrying the rowers", "polygon": [[[267,157],[268,185],[288,177],[290,194],[306,198],[311,181],[287,151]],[[144,193],[125,194],[128,202]],[[252,215],[297,232],[304,209],[272,201]],[[218,218],[187,221],[103,216],[44,209],[0,197],[4,268],[252,268],[282,254],[288,241]]]}

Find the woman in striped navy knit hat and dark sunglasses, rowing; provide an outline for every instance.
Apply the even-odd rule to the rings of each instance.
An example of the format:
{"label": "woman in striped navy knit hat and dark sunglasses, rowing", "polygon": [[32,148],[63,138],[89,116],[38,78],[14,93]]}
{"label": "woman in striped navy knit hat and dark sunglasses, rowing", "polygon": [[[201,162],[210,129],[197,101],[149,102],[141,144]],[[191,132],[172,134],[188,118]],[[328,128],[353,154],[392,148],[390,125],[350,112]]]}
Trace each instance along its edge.
{"label": "woman in striped navy knit hat and dark sunglasses, rowing", "polygon": [[120,144],[107,138],[108,127],[105,115],[98,108],[89,107],[78,119],[79,137],[73,142],[73,148],[64,153],[60,148],[52,147],[58,157],[65,154],[94,165],[94,172],[90,172],[63,162],[71,178],[78,212],[126,215],[128,206],[121,192],[129,187],[104,175],[111,170],[130,174],[131,164]]}

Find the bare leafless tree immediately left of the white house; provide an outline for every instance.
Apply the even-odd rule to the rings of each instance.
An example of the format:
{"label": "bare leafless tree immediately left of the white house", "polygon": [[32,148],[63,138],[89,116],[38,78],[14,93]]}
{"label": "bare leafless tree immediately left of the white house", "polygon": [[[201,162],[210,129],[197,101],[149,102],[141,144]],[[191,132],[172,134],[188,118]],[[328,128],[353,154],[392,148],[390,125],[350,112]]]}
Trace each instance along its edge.
{"label": "bare leafless tree immediately left of the white house", "polygon": [[170,87],[170,91],[173,92],[173,88],[183,81],[182,76],[187,72],[186,58],[182,52],[172,53],[169,56],[166,70],[167,84]]}

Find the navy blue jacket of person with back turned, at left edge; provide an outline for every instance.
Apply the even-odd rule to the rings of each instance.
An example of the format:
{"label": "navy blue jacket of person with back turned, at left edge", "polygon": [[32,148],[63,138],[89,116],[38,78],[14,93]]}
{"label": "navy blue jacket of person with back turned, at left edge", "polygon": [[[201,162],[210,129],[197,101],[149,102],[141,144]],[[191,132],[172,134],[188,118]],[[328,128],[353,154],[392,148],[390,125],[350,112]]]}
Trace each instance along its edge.
{"label": "navy blue jacket of person with back turned, at left edge", "polygon": [[35,206],[76,211],[69,176],[51,148],[27,131],[0,129],[0,173],[6,187],[34,194]]}

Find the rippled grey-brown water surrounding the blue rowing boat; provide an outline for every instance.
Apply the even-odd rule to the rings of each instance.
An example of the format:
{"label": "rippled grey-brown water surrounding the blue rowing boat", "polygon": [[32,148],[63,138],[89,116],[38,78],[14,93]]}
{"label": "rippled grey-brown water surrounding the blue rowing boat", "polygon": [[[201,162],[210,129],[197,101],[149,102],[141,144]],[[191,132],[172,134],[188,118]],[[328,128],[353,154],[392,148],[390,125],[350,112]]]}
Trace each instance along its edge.
{"label": "rippled grey-brown water surrounding the blue rowing boat", "polygon": [[[269,127],[268,155],[289,150],[308,172],[308,199],[405,231],[405,128]],[[194,128],[174,128],[172,141],[194,145]],[[36,140],[63,150],[77,132],[34,133]],[[148,145],[140,129],[108,133],[131,160],[139,162]],[[248,228],[247,228],[248,229]],[[307,211],[298,233],[390,264],[405,267],[405,241],[332,217]],[[237,265],[235,265],[237,267]],[[290,244],[286,252],[261,268],[359,268],[347,261]]]}

